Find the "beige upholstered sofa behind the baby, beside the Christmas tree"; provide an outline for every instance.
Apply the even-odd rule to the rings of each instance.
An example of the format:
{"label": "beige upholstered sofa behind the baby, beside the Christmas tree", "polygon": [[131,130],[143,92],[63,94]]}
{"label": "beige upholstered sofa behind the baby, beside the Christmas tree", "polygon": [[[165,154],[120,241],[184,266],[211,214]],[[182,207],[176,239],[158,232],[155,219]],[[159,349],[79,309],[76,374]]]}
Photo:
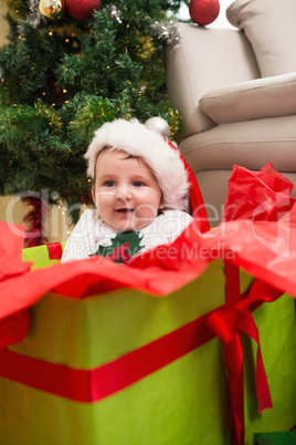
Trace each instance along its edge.
{"label": "beige upholstered sofa behind the baby, beside the Christmas tree", "polygon": [[236,0],[226,9],[235,28],[180,22],[179,43],[167,48],[169,97],[183,122],[177,143],[211,226],[234,165],[272,163],[296,184],[295,17],[295,0]]}

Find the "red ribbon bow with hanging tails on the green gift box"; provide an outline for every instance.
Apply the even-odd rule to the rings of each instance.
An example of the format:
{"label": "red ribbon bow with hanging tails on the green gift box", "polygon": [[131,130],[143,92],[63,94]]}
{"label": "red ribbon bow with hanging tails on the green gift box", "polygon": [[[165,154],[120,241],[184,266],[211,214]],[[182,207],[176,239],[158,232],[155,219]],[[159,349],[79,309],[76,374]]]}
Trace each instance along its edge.
{"label": "red ribbon bow with hanging tails on the green gift box", "polygon": [[[275,301],[283,292],[255,280],[247,297],[240,296],[240,270],[225,262],[226,304],[210,314],[207,324],[223,345],[229,377],[232,445],[244,445],[244,377],[242,332],[257,343],[256,390],[258,412],[272,408],[268,382],[263,364],[258,330],[251,314],[264,301]],[[235,302],[236,301],[236,302]],[[231,303],[231,306],[230,306]]]}

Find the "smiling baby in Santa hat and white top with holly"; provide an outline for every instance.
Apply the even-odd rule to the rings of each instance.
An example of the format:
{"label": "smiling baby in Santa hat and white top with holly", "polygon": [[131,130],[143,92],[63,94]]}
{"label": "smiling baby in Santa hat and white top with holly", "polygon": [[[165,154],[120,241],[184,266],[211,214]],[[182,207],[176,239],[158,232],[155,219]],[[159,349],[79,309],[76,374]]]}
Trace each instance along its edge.
{"label": "smiling baby in Santa hat and white top with holly", "polygon": [[127,263],[172,242],[192,221],[184,211],[189,184],[178,151],[137,120],[104,124],[85,158],[96,209],[82,214],[62,261],[99,255]]}

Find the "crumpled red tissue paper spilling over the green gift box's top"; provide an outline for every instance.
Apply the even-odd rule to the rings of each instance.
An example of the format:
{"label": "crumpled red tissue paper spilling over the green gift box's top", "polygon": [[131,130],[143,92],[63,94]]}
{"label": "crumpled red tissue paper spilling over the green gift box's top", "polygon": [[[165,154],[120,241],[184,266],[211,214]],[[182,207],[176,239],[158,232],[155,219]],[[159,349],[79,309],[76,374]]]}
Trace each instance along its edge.
{"label": "crumpled red tissue paper spilling over the green gift box's top", "polygon": [[[282,197],[287,198],[284,193],[287,190],[287,180],[282,175],[278,177],[279,174],[268,167],[268,175],[264,170],[262,175],[268,179],[266,184],[253,172],[242,167],[234,168],[234,175],[237,172],[241,175],[237,182],[240,194],[244,180],[246,184],[245,203],[241,204],[241,197],[235,198],[237,192],[235,182],[231,178],[224,221],[220,226],[201,232],[200,221],[195,218],[173,244],[159,246],[152,253],[146,252],[128,266],[116,265],[99,257],[30,271],[30,265],[18,260],[21,255],[21,245],[18,241],[14,258],[11,252],[0,258],[0,318],[29,308],[49,291],[83,298],[127,286],[163,296],[201,275],[208,261],[218,258],[229,259],[255,278],[295,297],[296,205],[294,199],[288,198],[285,211],[275,211]],[[268,185],[273,172],[275,190]],[[250,194],[254,196],[258,189],[258,183],[260,197],[265,187],[267,201],[271,204],[261,214],[264,214],[263,220],[257,217],[252,219],[252,208],[257,215],[260,197],[249,199]],[[277,219],[271,220],[272,216]],[[234,217],[240,219],[233,219]],[[3,246],[7,244],[7,224],[1,222],[0,227],[0,245]],[[13,234],[10,234],[10,238],[13,238]],[[3,248],[1,251],[6,253]],[[123,267],[124,273],[120,270]],[[138,269],[141,269],[140,273]]]}

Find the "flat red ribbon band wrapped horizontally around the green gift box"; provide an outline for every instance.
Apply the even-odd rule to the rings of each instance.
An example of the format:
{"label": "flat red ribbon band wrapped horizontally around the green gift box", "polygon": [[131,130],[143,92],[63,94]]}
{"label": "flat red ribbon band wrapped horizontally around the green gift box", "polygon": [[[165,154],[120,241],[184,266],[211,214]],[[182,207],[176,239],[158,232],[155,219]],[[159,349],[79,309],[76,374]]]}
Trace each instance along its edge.
{"label": "flat red ribbon band wrapped horizontally around the green gift box", "polygon": [[96,402],[180,359],[214,338],[207,313],[139,349],[93,370],[65,365],[0,350],[0,375],[78,402]]}

